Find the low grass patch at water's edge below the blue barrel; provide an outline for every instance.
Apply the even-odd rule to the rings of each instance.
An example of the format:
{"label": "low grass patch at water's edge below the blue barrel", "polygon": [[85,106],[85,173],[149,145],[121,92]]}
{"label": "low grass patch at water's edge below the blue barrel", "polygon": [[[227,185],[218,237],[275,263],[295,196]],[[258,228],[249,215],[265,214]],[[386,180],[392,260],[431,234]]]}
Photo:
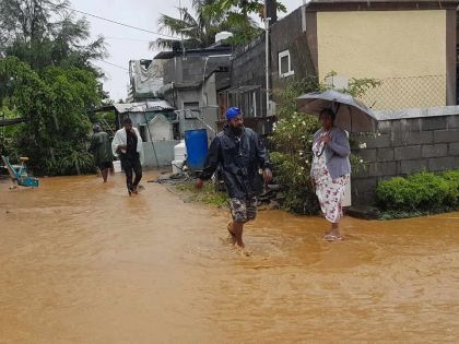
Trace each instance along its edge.
{"label": "low grass patch at water's edge below the blue barrel", "polygon": [[190,202],[198,202],[213,206],[227,206],[228,197],[225,192],[215,190],[212,182],[205,182],[202,190],[195,188],[195,182],[187,181],[175,186],[175,189],[187,197]]}

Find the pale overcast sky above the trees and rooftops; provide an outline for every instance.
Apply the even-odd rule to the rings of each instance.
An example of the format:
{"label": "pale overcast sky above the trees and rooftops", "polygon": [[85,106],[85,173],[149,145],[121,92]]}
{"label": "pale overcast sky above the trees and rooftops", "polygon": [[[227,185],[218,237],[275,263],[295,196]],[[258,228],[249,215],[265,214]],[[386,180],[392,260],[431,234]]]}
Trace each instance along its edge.
{"label": "pale overcast sky above the trees and rooftops", "polygon": [[[130,24],[148,31],[157,32],[157,17],[161,13],[178,15],[179,0],[71,0],[74,10],[87,12],[117,22]],[[303,0],[282,0],[287,12],[298,8]],[[181,0],[181,5],[189,7],[190,0]],[[83,14],[75,13],[78,16]],[[96,64],[107,76],[104,90],[110,93],[110,98],[118,100],[127,96],[129,60],[151,59],[157,51],[149,49],[149,41],[157,35],[123,27],[95,17],[86,16],[91,23],[93,37],[106,37],[109,57]],[[110,66],[109,63],[118,67]],[[126,69],[126,70],[125,70]]]}

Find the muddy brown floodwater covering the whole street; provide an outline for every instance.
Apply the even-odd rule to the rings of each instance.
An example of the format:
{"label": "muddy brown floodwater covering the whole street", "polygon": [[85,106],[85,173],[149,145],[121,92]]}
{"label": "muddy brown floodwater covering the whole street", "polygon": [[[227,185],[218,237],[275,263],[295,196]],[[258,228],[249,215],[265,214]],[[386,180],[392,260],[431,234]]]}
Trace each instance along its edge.
{"label": "muddy brown floodwater covering the whole street", "polygon": [[[151,178],[148,174],[145,180]],[[457,342],[459,214],[391,222],[225,211],[122,176],[0,183],[1,343]]]}

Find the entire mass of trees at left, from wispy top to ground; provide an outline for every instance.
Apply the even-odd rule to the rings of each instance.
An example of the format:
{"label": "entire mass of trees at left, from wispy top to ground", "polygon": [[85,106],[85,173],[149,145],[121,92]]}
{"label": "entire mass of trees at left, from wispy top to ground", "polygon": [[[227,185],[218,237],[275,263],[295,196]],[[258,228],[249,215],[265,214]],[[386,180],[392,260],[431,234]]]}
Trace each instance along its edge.
{"label": "entire mass of trees at left, from wispy top to ground", "polygon": [[89,22],[68,0],[0,0],[0,111],[28,121],[7,131],[2,153],[26,155],[38,175],[87,173],[89,110],[106,96],[92,61],[106,57],[90,41]]}

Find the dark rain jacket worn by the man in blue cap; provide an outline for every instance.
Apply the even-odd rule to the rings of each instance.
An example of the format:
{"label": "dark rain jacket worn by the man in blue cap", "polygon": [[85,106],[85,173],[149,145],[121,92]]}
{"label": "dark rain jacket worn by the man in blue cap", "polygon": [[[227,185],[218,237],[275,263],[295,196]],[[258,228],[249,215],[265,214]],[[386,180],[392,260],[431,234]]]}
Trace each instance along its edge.
{"label": "dark rain jacket worn by the man in blue cap", "polygon": [[270,168],[270,163],[254,130],[245,128],[242,135],[236,137],[225,123],[212,141],[200,178],[210,179],[219,166],[229,198],[246,199],[261,191],[259,169]]}

